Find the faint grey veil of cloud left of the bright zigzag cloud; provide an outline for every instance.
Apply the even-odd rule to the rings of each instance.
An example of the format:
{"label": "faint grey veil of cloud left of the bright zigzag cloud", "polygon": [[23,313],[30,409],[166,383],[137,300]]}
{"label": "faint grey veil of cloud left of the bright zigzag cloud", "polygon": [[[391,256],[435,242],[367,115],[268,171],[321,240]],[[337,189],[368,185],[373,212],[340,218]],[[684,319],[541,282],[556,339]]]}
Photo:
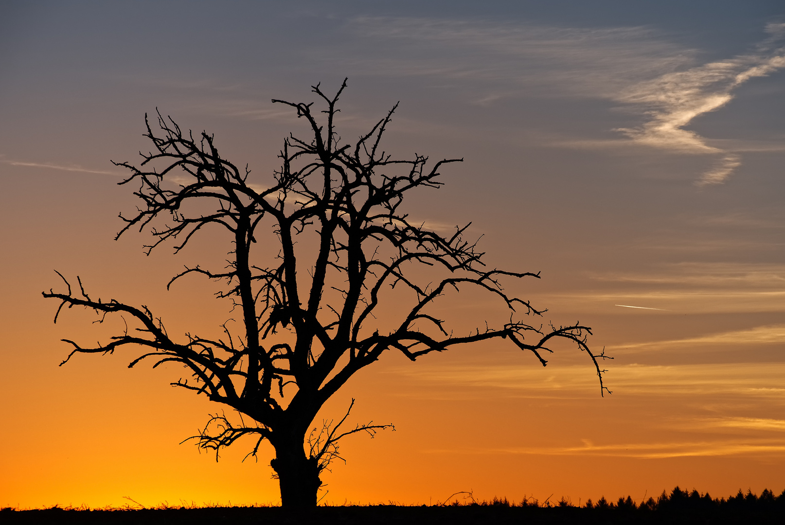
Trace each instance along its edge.
{"label": "faint grey veil of cloud left of the bright zigzag cloud", "polygon": [[484,20],[358,16],[347,24],[369,42],[396,40],[396,54],[353,59],[379,75],[493,82],[476,100],[568,93],[608,98],[620,87],[675,71],[694,51],[648,27],[544,27]]}

